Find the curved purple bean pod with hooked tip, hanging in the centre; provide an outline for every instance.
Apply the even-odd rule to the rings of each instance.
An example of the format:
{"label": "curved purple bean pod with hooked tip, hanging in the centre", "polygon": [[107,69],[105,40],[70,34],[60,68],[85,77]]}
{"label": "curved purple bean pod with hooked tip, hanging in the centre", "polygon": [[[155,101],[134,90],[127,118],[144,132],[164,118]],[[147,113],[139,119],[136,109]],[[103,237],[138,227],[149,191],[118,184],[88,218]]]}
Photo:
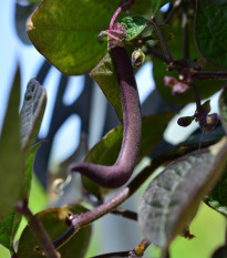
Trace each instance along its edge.
{"label": "curved purple bean pod with hooked tip, hanging in the centre", "polygon": [[120,83],[124,135],[118,158],[113,166],[90,163],[72,164],[69,172],[80,172],[106,188],[124,185],[135,167],[141,144],[141,105],[131,60],[122,44],[111,49]]}

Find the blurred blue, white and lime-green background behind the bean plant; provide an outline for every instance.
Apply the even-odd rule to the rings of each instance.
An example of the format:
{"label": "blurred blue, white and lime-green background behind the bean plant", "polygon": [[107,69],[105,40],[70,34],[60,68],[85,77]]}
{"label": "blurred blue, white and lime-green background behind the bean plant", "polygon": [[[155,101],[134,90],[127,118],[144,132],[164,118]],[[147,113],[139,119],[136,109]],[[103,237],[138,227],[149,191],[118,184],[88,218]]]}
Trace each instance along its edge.
{"label": "blurred blue, white and lime-green background behind the bean plant", "polygon": [[[65,76],[61,74],[30,44],[25,34],[25,20],[34,8],[35,4],[22,1],[0,0],[0,128],[16,68],[20,65],[21,104],[27,83],[31,78],[35,78],[48,92],[48,105],[38,135],[38,141],[48,140],[48,142],[42,145],[35,157],[30,198],[32,211],[38,213],[45,207],[73,203],[75,198],[80,198],[81,185],[78,183],[80,180],[78,176],[74,177],[74,185],[68,189],[64,198],[58,199],[49,186],[59,175],[65,176],[63,168],[69,161],[83,159],[86,151],[120,122],[103,93],[89,75]],[[163,11],[167,8],[168,4]],[[197,128],[196,124],[187,128],[176,124],[179,116],[195,111],[195,104],[179,110],[165,102],[155,90],[151,62],[140,69],[136,73],[136,81],[143,115],[178,112],[166,128],[159,148],[178,144]],[[217,112],[217,95],[214,95],[211,101],[214,112]],[[145,187],[144,185],[136,196],[126,202],[124,207],[136,211],[140,196]],[[18,237],[24,225],[23,220]],[[206,205],[202,205],[190,228],[196,238],[188,241],[177,237],[172,245],[172,257],[210,257],[214,249],[224,242],[224,218]],[[93,235],[86,257],[133,249],[142,240],[135,221],[114,215],[107,215],[96,221]],[[145,257],[155,258],[157,255],[158,249],[151,247]],[[0,257],[9,257],[1,246]]]}

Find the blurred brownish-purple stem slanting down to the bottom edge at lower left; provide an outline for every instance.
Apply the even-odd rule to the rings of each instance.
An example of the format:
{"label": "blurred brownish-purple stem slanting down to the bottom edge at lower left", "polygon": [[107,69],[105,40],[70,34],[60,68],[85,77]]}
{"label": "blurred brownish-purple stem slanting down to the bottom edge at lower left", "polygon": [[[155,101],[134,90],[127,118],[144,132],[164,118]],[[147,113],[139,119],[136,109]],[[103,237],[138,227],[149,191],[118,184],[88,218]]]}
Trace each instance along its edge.
{"label": "blurred brownish-purple stem slanting down to the bottom edge at lower left", "polygon": [[52,244],[48,233],[43,228],[41,221],[31,213],[27,202],[19,202],[17,205],[17,211],[22,214],[28,223],[35,238],[40,242],[44,255],[49,258],[59,258],[59,255]]}

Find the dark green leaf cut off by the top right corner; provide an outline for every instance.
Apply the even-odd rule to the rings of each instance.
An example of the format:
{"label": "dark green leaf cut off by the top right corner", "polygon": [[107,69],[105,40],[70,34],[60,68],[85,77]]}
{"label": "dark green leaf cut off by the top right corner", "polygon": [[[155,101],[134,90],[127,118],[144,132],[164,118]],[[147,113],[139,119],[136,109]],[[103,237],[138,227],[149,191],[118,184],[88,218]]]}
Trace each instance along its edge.
{"label": "dark green leaf cut off by the top right corner", "polygon": [[209,62],[227,69],[227,1],[198,0],[195,35],[197,47]]}

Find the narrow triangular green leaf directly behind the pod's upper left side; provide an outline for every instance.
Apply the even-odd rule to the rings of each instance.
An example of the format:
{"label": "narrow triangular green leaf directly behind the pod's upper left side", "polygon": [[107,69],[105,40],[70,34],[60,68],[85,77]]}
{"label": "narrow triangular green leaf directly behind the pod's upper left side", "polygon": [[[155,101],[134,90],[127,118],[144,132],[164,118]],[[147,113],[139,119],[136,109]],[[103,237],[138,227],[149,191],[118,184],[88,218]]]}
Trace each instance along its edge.
{"label": "narrow triangular green leaf directly behind the pod's upper left side", "polygon": [[110,53],[106,53],[100,63],[91,71],[90,76],[99,84],[122,122],[120,86]]}

